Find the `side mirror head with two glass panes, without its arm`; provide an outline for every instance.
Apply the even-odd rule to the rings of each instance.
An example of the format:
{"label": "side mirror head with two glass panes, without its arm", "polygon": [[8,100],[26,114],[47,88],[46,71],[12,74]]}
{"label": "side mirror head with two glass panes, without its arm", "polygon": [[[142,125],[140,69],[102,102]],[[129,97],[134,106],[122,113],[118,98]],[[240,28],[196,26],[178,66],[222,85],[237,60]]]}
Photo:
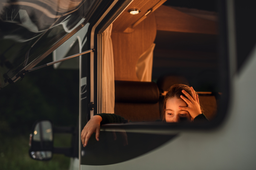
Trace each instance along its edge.
{"label": "side mirror head with two glass panes, without its arm", "polygon": [[33,133],[30,134],[29,155],[32,159],[47,161],[52,159],[53,128],[52,122],[42,120],[35,123]]}

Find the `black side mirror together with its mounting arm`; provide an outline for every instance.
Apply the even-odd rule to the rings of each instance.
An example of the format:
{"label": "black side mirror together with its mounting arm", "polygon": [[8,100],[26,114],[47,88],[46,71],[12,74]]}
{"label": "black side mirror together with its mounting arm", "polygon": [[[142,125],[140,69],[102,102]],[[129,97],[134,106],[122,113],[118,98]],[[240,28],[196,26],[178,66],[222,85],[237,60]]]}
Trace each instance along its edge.
{"label": "black side mirror together with its mounting arm", "polygon": [[[54,153],[64,154],[69,157],[79,157],[79,134],[78,128],[53,127],[49,120],[35,122],[32,133],[29,136],[29,156],[39,161],[52,159]],[[54,147],[53,134],[70,133],[72,134],[72,147]],[[76,144],[77,142],[77,144]]]}

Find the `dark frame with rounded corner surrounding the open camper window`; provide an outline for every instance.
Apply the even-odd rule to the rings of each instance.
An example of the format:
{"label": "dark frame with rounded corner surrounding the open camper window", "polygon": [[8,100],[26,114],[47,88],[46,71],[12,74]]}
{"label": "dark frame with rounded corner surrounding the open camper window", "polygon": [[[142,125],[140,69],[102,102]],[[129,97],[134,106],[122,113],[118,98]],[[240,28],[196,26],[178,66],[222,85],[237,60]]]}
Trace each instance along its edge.
{"label": "dark frame with rounded corner surrounding the open camper window", "polygon": [[[218,4],[218,18],[219,18],[219,25],[218,25],[218,61],[219,61],[219,71],[221,73],[220,76],[220,84],[221,84],[221,91],[223,91],[221,95],[221,99],[219,101],[218,105],[218,112],[216,114],[215,119],[213,119],[211,122],[207,123],[164,123],[164,122],[131,122],[131,123],[114,123],[114,124],[105,124],[102,125],[102,130],[106,129],[137,129],[137,130],[206,130],[206,129],[213,129],[218,126],[220,126],[225,118],[227,117],[227,110],[229,108],[230,103],[230,91],[231,91],[231,77],[230,77],[230,51],[229,51],[229,36],[230,33],[228,32],[228,29],[232,27],[227,22],[228,19],[232,16],[228,15],[230,11],[228,11],[227,8],[227,0],[217,0]],[[96,106],[98,106],[98,91],[96,89],[99,89],[98,86],[98,76],[101,76],[99,73],[99,48],[101,48],[101,45],[99,43],[99,36],[102,34],[102,32],[105,30],[104,28],[107,28],[113,21],[118,17],[116,14],[116,11],[114,9],[118,8],[117,4],[114,6],[110,12],[106,15],[106,17],[98,23],[98,25],[93,24],[92,27],[94,27],[94,32],[91,34],[91,43],[94,43],[94,45],[91,44],[91,47],[94,47],[96,51],[93,54],[94,57],[94,89],[95,91],[91,95],[94,94],[94,106],[95,109],[93,110],[93,115],[96,115],[98,113],[98,109]],[[124,7],[123,7],[124,8]],[[120,12],[120,11],[119,11]],[[99,22],[99,20],[97,20]],[[96,28],[95,28],[96,26]],[[90,28],[89,28],[90,29]],[[98,31],[98,34],[95,34]],[[90,32],[90,31],[88,31]],[[89,36],[89,37],[90,37]],[[93,40],[93,41],[92,41]],[[92,80],[92,79],[91,79]],[[91,114],[92,115],[92,114]]]}

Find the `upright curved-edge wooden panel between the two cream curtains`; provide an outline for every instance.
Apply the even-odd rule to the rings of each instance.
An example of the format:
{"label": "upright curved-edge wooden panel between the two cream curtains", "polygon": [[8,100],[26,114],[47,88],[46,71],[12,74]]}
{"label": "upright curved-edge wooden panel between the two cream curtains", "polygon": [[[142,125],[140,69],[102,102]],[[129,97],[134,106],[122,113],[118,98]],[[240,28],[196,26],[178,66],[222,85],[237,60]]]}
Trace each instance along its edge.
{"label": "upright curved-edge wooden panel between the two cream curtains", "polygon": [[111,33],[115,80],[139,81],[136,74],[137,61],[141,54],[154,43],[157,34],[156,27],[153,13],[143,20],[132,33]]}

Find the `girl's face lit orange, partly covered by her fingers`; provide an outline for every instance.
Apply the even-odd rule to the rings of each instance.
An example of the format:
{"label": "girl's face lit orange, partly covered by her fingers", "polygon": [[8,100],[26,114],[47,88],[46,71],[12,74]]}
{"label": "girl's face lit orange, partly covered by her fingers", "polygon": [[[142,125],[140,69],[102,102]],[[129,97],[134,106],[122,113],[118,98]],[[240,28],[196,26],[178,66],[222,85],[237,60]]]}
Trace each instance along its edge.
{"label": "girl's face lit orange, partly covered by her fingers", "polygon": [[179,109],[179,106],[187,107],[183,99],[171,98],[166,101],[166,122],[191,122],[191,116],[188,111]]}

